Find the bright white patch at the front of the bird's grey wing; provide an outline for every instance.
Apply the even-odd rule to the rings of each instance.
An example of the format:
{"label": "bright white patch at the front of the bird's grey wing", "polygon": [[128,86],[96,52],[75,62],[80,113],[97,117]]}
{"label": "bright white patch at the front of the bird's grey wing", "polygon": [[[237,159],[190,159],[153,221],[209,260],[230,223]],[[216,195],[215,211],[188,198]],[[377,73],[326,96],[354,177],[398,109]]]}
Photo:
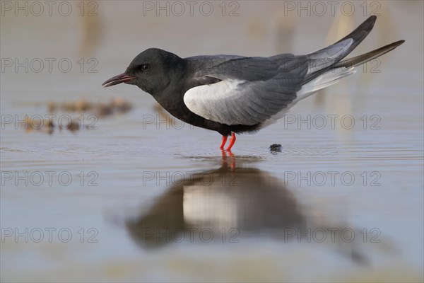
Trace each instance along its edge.
{"label": "bright white patch at the front of the bird's grey wing", "polygon": [[231,108],[225,103],[225,100],[242,99],[243,92],[240,91],[239,86],[245,82],[228,79],[211,85],[190,88],[184,94],[184,103],[190,111],[208,120],[227,125],[245,124],[246,121],[240,120],[235,113],[231,113]]}

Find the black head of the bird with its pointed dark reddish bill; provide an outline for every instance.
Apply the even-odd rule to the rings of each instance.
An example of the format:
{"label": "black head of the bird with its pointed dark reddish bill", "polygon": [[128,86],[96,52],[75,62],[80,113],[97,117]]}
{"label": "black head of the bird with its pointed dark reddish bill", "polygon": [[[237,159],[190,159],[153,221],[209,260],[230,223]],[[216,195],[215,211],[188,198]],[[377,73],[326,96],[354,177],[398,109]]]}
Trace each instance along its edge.
{"label": "black head of the bird with its pointed dark reddish bill", "polygon": [[172,69],[184,60],[177,55],[149,48],[138,54],[123,74],[108,79],[102,86],[114,86],[119,83],[134,84],[150,94],[158,94],[170,83]]}

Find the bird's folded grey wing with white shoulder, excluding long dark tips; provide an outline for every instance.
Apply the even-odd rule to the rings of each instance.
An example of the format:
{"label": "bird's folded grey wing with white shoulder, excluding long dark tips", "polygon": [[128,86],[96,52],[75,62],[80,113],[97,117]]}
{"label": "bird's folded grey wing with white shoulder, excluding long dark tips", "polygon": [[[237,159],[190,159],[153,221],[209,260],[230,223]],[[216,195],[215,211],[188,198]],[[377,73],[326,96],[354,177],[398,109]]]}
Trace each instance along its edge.
{"label": "bird's folded grey wing with white shoulder, excluding long dark tips", "polygon": [[220,82],[190,88],[184,103],[192,112],[226,125],[257,125],[287,107],[302,88],[306,56],[192,57],[193,79]]}

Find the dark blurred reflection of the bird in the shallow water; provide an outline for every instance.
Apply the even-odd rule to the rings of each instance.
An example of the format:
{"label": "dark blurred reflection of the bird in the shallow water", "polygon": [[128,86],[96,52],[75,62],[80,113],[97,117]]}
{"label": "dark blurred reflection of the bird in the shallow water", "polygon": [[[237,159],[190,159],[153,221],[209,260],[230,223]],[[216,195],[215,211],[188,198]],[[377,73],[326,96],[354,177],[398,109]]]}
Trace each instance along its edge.
{"label": "dark blurred reflection of the bird in the shallow water", "polygon": [[[224,156],[216,170],[184,178],[158,197],[146,213],[126,219],[134,241],[143,248],[180,242],[240,243],[258,237],[310,243],[316,238],[321,241],[321,232],[326,231],[326,242],[336,250],[365,262],[356,244],[337,240],[346,226],[321,224],[317,233],[309,209],[302,208],[281,180],[257,168],[236,166],[235,157],[229,159]],[[329,227],[338,229],[333,231],[335,241],[326,230]]]}

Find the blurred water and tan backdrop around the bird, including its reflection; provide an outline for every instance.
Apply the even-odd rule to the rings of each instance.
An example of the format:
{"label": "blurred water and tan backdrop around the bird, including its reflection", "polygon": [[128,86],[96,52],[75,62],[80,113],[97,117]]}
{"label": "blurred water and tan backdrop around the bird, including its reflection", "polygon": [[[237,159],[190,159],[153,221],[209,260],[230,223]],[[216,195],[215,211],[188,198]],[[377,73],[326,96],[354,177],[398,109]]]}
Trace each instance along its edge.
{"label": "blurred water and tan backdrop around the bird, including its reflection", "polygon": [[[0,3],[2,282],[423,282],[423,1]],[[149,47],[307,54],[371,15],[353,56],[404,45],[232,154],[101,87]]]}

